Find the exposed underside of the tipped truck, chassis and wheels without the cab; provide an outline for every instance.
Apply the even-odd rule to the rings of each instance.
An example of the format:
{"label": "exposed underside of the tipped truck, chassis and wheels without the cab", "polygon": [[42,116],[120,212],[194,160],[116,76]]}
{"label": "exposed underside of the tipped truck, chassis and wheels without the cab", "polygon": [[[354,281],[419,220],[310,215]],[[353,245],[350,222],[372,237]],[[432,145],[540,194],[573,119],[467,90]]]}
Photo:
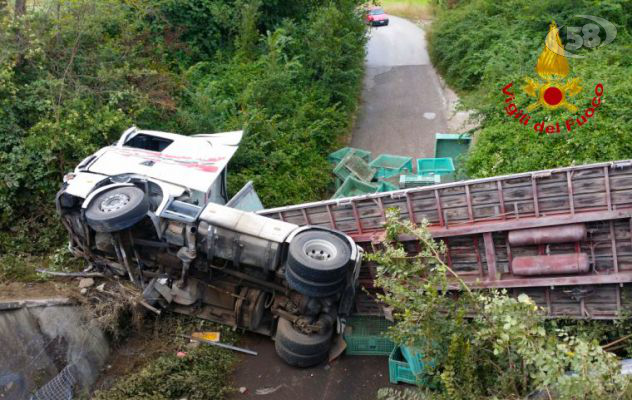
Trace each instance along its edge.
{"label": "exposed underside of the tipped truck, chassis and wheels without the cab", "polygon": [[110,187],[85,210],[62,190],[71,251],[129,277],[151,306],[274,336],[289,364],[327,358],[360,268],[362,250],[348,236],[214,203],[195,220],[155,225],[149,202],[135,208],[144,183]]}

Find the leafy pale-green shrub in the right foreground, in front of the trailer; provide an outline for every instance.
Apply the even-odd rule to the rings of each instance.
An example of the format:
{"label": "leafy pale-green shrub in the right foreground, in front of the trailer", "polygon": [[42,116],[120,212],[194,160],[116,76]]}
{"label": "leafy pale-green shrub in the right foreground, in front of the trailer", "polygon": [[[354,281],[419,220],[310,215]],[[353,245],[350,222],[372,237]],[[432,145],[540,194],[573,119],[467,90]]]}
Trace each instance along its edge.
{"label": "leafy pale-green shrub in the right foreground, in front of the trailer", "polygon": [[[400,222],[395,210],[389,210],[387,234],[384,248],[368,258],[379,265],[376,284],[394,310],[390,336],[421,349],[428,382],[423,393],[383,391],[382,398],[517,399],[536,391],[542,392],[539,398],[560,400],[632,395],[632,380],[619,373],[616,356],[595,335],[582,333],[585,327],[547,323],[524,294],[470,290],[441,261],[443,243],[424,224]],[[395,241],[399,235],[419,241],[418,256],[406,256]],[[449,284],[458,286],[458,297],[446,290]]]}

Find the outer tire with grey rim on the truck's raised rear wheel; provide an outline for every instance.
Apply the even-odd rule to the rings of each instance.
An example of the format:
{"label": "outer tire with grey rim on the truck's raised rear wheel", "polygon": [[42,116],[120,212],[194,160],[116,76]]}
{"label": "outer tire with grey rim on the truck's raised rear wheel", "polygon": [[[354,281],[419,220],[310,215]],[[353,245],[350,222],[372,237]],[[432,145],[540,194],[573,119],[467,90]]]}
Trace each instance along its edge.
{"label": "outer tire with grey rim on the truck's raised rear wheel", "polygon": [[307,230],[290,242],[287,267],[310,282],[338,281],[347,272],[349,244],[340,236],[322,230]]}

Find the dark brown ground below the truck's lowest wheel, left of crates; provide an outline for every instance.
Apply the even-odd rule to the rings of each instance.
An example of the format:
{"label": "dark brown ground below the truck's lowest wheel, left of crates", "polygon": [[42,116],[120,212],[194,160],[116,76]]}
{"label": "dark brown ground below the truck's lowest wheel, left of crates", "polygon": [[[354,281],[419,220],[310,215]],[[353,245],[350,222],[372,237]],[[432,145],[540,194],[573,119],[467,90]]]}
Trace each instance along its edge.
{"label": "dark brown ground below the truck's lowest wheel, left of crates", "polygon": [[279,359],[270,338],[246,334],[240,345],[259,354],[240,356],[233,385],[246,392],[237,391],[231,400],[370,400],[390,385],[388,357],[343,355],[332,363],[300,369]]}

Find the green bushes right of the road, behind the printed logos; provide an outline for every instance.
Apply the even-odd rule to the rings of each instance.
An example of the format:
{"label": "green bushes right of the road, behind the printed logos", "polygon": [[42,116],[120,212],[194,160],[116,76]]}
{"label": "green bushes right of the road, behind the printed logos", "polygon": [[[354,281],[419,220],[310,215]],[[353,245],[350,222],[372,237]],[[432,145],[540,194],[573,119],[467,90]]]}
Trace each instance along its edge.
{"label": "green bushes right of the road, behind the printed logos", "polygon": [[[522,126],[505,112],[501,89],[513,82],[514,103],[526,110],[534,99],[522,86],[525,78],[539,79],[535,66],[549,24],[554,20],[558,26],[582,27],[591,22],[576,15],[605,18],[616,25],[617,37],[607,46],[573,51],[583,58],[568,59],[567,79],[579,78],[583,87],[572,98],[576,113],[540,107],[529,112],[529,127]],[[632,3],[625,0],[472,0],[440,8],[430,36],[432,60],[448,84],[461,92],[465,107],[482,119],[465,172],[486,177],[631,158],[631,15]],[[563,29],[562,42],[568,43],[565,35]],[[576,124],[571,133],[564,133],[564,121],[590,107],[598,83],[604,86],[601,107],[585,125]],[[533,123],[540,121],[561,121],[562,133],[536,133]]]}

